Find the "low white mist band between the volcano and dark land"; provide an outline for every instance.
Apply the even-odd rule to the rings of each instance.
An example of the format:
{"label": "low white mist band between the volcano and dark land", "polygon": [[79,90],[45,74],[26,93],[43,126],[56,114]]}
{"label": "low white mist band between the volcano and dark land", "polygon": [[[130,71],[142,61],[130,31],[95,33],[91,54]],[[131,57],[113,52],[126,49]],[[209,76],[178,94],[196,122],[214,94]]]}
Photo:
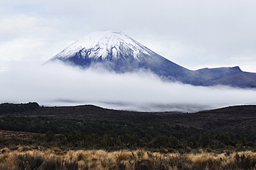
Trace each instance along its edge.
{"label": "low white mist band between the volcano and dark land", "polygon": [[93,104],[129,111],[195,112],[256,104],[256,90],[163,82],[143,70],[116,74],[60,63],[12,62],[0,72],[0,102],[43,106]]}

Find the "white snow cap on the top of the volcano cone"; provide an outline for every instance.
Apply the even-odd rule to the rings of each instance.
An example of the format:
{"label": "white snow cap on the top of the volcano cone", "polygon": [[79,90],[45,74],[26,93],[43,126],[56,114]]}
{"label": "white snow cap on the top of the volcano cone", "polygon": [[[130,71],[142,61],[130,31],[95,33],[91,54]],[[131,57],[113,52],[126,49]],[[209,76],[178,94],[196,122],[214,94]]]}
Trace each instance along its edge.
{"label": "white snow cap on the top of the volcano cone", "polygon": [[145,46],[139,44],[131,37],[123,32],[98,31],[86,35],[82,39],[75,41],[66,47],[62,52],[53,58],[68,58],[79,52],[82,57],[97,59],[101,57],[103,60],[111,54],[113,59],[122,56],[133,56],[134,59],[140,60],[140,54],[150,56],[153,53]]}

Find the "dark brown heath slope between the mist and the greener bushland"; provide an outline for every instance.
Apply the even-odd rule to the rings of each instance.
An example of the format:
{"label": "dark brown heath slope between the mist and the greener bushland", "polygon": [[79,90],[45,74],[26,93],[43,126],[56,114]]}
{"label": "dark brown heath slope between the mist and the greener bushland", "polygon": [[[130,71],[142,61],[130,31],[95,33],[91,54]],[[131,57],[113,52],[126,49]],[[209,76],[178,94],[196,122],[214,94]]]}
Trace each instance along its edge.
{"label": "dark brown heath slope between the mist and the greener bushland", "polygon": [[[256,105],[229,106],[197,113],[117,111],[93,105],[39,107],[35,111],[10,116],[45,116],[57,119],[111,120],[132,123],[156,123],[190,126],[206,131],[256,133]],[[6,115],[1,115],[6,116]]]}

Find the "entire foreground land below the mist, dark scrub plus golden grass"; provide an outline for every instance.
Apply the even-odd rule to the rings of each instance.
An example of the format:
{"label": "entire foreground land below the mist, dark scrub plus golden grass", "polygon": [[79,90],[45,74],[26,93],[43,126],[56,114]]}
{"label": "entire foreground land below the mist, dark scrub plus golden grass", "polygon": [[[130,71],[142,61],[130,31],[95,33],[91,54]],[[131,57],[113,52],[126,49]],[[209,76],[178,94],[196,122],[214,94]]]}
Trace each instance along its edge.
{"label": "entire foreground land below the mist, dark scrub plus golden grass", "polygon": [[0,170],[256,169],[256,106],[138,113],[0,104]]}

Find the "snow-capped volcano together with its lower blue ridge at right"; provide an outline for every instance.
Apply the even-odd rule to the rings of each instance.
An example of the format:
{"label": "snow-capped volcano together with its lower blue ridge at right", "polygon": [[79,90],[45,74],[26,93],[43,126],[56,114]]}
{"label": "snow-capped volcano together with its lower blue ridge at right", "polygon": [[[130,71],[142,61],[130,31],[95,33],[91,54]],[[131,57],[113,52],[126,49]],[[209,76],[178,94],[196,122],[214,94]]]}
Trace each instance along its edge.
{"label": "snow-capped volcano together with its lower blue ridge at right", "polygon": [[154,53],[123,32],[93,32],[67,46],[48,62],[61,61],[80,68],[104,68],[116,73],[145,70],[172,82],[195,86],[227,85],[256,88],[256,73],[238,66],[189,70]]}

